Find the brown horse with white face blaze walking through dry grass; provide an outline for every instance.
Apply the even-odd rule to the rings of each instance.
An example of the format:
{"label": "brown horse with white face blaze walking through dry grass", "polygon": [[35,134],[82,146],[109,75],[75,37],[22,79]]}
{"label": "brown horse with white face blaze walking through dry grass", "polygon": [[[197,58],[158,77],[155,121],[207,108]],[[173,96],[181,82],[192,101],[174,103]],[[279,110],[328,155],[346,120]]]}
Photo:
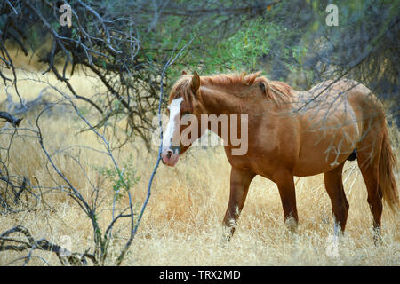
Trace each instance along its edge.
{"label": "brown horse with white face blaze walking through dry grass", "polygon": [[[190,143],[204,134],[204,128],[198,128],[198,135],[192,135],[189,144],[180,143],[180,135],[188,127],[180,123],[185,115],[195,115],[200,121],[204,114],[214,117],[247,114],[246,153],[232,154],[237,145],[224,141],[232,166],[228,209],[223,221],[229,236],[234,233],[249,185],[256,175],[276,183],[285,223],[295,232],[298,214],[293,177],[324,173],[324,184],[332,201],[335,235],[340,230],[344,232],[349,207],[342,184],[346,160],[357,159],[364,177],[374,239],[380,234],[382,198],[390,209],[398,209],[393,173],[396,158],[389,144],[384,110],[361,83],[327,81],[309,91],[294,91],[289,85],[269,81],[260,73],[200,77],[196,72],[194,75],[183,72],[172,87],[169,101],[170,121],[164,135],[162,160],[170,166],[178,162]],[[232,121],[228,119],[228,123]],[[235,128],[229,125],[229,130],[232,126]],[[210,123],[207,128],[211,129]],[[216,131],[219,136],[221,133],[222,130]],[[178,137],[177,143],[172,143],[173,137]]]}

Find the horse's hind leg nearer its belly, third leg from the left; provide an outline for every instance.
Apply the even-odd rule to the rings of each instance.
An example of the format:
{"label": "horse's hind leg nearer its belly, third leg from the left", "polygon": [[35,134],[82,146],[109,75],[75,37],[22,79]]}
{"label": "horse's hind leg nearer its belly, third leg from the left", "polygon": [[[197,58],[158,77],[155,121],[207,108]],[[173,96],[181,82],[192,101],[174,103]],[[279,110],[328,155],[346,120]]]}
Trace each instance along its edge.
{"label": "horse's hind leg nearer its belly, third leg from the left", "polygon": [[342,170],[344,162],[333,170],[324,173],[324,183],[326,192],[331,198],[332,212],[334,217],[334,233],[335,236],[344,233],[346,222],[348,220],[348,200],[343,189]]}

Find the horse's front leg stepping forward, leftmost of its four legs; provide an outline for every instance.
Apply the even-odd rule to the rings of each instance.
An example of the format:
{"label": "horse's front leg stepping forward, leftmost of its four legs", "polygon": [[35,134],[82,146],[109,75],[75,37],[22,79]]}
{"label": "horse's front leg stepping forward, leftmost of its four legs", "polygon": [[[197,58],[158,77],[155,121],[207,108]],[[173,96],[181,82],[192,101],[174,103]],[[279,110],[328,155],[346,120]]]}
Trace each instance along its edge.
{"label": "horse's front leg stepping forward, leftmost of its four legs", "polygon": [[230,171],[230,195],[227,213],[225,213],[223,224],[227,227],[227,240],[235,232],[236,221],[243,209],[249,185],[255,174],[250,170],[239,170],[232,167]]}

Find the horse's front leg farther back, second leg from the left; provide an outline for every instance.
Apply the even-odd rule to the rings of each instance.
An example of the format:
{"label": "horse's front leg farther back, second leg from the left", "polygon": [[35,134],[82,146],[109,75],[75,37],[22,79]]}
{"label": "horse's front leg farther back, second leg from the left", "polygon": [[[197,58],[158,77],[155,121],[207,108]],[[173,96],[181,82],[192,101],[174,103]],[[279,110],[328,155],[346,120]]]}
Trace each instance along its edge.
{"label": "horse's front leg farther back, second leg from the left", "polygon": [[284,223],[292,233],[296,233],[299,217],[297,216],[293,174],[288,170],[277,170],[273,178],[279,189],[284,208]]}

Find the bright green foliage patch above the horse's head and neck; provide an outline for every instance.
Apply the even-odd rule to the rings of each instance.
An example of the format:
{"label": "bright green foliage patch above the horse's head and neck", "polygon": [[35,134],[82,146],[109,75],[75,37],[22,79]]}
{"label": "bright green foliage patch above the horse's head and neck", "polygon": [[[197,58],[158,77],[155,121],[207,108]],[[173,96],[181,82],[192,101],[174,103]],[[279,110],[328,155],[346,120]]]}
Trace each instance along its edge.
{"label": "bright green foliage patch above the horse's head and neck", "polygon": [[[188,69],[203,75],[261,70],[264,59],[275,52],[271,49],[272,43],[279,42],[285,33],[288,33],[287,29],[280,25],[254,18],[244,21],[241,28],[226,38],[212,41],[210,36],[201,36],[192,44],[194,47],[168,70],[167,76],[173,81],[180,76],[181,70]],[[300,59],[306,51],[300,46],[284,46],[280,55],[283,61],[289,61],[293,55]]]}

